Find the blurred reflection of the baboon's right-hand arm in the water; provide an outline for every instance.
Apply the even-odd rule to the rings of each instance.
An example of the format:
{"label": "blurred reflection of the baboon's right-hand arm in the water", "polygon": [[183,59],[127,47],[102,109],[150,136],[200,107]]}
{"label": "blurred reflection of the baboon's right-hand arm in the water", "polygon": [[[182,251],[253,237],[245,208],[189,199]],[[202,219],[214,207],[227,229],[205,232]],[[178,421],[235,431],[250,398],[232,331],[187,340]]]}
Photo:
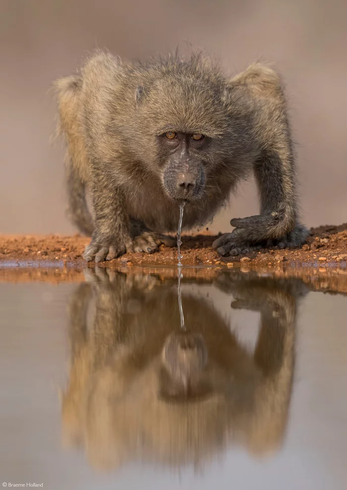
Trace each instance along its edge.
{"label": "blurred reflection of the baboon's right-hand arm in the water", "polygon": [[280,290],[266,296],[260,308],[261,326],[254,351],[254,362],[263,377],[255,392],[248,440],[250,450],[256,453],[282,443],[295,355],[295,298]]}

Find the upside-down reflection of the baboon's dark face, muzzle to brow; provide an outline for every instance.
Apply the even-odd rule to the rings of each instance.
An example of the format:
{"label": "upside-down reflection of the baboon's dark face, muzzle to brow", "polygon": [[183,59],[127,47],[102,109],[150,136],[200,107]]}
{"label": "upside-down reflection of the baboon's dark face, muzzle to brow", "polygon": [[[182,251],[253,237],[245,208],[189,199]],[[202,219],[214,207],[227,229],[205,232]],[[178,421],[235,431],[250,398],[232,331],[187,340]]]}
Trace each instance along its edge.
{"label": "upside-down reflection of the baboon's dark face, muzzle to brow", "polygon": [[162,351],[159,395],[170,400],[206,395],[209,392],[204,376],[206,363],[207,348],[201,335],[171,334]]}

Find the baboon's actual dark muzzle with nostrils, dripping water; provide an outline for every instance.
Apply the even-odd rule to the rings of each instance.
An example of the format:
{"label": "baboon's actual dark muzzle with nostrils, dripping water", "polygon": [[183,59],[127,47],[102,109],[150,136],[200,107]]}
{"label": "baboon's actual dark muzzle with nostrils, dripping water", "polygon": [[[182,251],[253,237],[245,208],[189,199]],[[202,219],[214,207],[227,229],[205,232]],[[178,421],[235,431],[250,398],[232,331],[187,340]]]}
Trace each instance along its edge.
{"label": "baboon's actual dark muzzle with nostrils, dripping water", "polygon": [[164,185],[173,199],[193,200],[199,197],[204,185],[204,171],[201,164],[189,168],[181,168],[169,164],[164,172]]}

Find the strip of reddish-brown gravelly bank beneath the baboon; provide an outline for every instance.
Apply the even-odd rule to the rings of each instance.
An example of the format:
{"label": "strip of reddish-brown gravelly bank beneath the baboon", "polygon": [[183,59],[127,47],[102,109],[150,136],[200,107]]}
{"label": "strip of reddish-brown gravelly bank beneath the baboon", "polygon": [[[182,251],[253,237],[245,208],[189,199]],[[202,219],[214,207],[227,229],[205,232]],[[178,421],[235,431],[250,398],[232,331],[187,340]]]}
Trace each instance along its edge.
{"label": "strip of reddish-brown gravelly bank beneath the baboon", "polygon": [[[208,235],[183,236],[181,252],[183,265],[226,265],[236,264],[256,266],[297,265],[344,265],[347,262],[347,224],[340,226],[321,226],[311,229],[312,235],[307,243],[298,248],[264,248],[245,256],[221,257],[212,248],[216,237]],[[50,236],[0,236],[1,263],[13,262],[13,265],[40,263],[60,267],[85,266],[82,258],[89,238],[74,235],[63,237]],[[132,265],[174,265],[177,263],[177,248],[161,245],[152,254],[126,253],[108,263],[110,266]]]}

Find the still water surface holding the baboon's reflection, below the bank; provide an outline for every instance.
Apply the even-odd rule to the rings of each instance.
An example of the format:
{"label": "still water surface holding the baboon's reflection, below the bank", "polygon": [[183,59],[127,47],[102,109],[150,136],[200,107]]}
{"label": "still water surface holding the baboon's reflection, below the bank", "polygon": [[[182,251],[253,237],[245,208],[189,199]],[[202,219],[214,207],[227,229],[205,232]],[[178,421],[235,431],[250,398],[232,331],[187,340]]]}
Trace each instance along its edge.
{"label": "still water surface holding the baboon's reflection, below the bank", "polygon": [[347,487],[343,260],[183,267],[184,328],[176,267],[36,265],[0,268],[8,486]]}

